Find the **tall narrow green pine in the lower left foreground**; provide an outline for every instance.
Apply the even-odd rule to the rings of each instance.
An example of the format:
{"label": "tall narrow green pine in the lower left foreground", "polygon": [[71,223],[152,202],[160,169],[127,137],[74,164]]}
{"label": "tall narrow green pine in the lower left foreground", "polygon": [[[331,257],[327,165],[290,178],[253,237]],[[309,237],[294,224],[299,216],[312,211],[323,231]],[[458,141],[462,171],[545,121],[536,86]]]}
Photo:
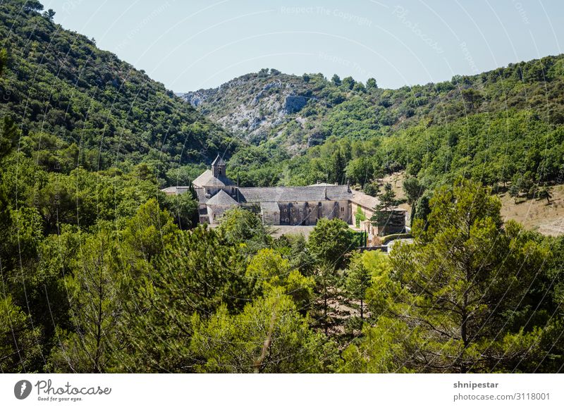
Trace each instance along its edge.
{"label": "tall narrow green pine in the lower left foreground", "polygon": [[59,372],[104,373],[114,366],[121,344],[119,295],[121,259],[118,242],[108,231],[87,238],[66,280],[71,330],[58,330],[61,344],[50,365]]}

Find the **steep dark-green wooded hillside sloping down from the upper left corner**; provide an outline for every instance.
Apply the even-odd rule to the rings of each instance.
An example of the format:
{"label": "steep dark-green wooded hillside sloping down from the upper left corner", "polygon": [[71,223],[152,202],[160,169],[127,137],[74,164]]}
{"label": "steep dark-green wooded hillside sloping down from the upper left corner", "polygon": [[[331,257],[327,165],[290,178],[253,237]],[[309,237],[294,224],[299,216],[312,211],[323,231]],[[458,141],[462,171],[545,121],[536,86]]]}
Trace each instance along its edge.
{"label": "steep dark-green wooded hillside sloping down from the upper left corner", "polygon": [[0,49],[0,116],[20,125],[20,150],[46,169],[145,162],[166,178],[174,163],[235,147],[164,85],[55,24],[37,1],[0,2]]}

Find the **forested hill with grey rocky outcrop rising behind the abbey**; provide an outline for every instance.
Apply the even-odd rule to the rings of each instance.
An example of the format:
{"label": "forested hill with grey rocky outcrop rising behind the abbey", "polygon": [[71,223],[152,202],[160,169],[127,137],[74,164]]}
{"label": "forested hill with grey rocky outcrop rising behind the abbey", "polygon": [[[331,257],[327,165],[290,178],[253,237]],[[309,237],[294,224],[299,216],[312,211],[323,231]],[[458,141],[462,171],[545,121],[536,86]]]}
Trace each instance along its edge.
{"label": "forested hill with grey rocky outcrop rising behind the abbey", "polygon": [[231,161],[248,185],[364,185],[405,170],[429,186],[463,175],[525,193],[564,176],[561,55],[400,89],[265,68],[183,97],[260,144]]}

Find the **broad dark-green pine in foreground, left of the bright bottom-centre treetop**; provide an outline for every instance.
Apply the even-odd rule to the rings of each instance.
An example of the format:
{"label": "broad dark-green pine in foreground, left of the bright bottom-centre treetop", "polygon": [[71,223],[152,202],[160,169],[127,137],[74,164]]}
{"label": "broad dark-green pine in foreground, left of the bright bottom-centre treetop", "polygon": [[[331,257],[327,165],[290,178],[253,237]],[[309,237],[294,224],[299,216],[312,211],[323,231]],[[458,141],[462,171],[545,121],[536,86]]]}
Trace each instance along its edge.
{"label": "broad dark-green pine in foreground, left of the bright bottom-centre treetop", "polygon": [[[192,372],[192,315],[242,309],[251,288],[243,256],[214,230],[182,231],[144,273],[124,276],[118,371]],[[143,271],[142,271],[143,272]]]}

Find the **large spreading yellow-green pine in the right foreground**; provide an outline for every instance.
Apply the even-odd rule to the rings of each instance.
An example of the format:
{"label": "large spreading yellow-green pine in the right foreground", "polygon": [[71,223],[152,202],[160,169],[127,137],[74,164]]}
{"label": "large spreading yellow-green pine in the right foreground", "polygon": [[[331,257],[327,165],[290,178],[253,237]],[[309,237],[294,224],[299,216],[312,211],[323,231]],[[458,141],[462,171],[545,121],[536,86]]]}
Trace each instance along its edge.
{"label": "large spreading yellow-green pine in the right foreground", "polygon": [[541,341],[538,328],[512,327],[507,319],[524,311],[520,299],[543,273],[547,249],[515,223],[503,229],[500,203],[479,185],[443,188],[431,209],[427,231],[415,225],[414,244],[394,249],[393,272],[373,278],[370,290],[370,307],[381,316],[372,334],[392,319],[400,337],[363,347],[379,355],[399,342],[410,354],[397,369],[511,370]]}

